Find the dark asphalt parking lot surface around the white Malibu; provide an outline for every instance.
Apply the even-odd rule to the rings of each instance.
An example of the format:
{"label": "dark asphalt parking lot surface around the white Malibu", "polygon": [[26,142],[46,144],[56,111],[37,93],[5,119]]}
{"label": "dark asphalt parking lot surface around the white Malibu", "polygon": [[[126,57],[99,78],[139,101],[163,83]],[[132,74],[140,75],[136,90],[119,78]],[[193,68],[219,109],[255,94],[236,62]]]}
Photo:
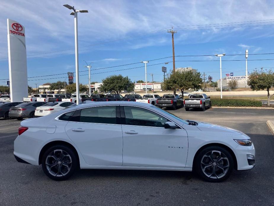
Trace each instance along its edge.
{"label": "dark asphalt parking lot surface around the white Malibu", "polygon": [[132,170],[81,170],[56,182],[41,166],[15,160],[20,121],[0,119],[0,205],[274,205],[274,137],[266,124],[274,110],[172,112],[243,131],[254,142],[256,167],[234,171],[222,183],[204,182],[192,172]]}

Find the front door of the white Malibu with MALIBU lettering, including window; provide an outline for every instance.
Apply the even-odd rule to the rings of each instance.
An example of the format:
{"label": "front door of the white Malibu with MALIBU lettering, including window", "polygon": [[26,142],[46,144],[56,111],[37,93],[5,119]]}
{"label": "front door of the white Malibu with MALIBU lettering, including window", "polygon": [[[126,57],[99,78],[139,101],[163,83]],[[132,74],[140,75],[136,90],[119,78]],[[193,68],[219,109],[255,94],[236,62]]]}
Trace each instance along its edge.
{"label": "front door of the white Malibu with MALIBU lettering, including window", "polygon": [[167,118],[145,108],[121,106],[123,166],[184,168],[188,135],[165,129]]}

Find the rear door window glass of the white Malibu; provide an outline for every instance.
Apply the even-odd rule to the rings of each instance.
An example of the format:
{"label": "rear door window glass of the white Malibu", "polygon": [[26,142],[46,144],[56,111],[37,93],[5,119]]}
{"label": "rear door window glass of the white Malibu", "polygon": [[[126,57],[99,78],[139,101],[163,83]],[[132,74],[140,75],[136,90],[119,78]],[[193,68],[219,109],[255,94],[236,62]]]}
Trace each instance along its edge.
{"label": "rear door window glass of the white Malibu", "polygon": [[79,121],[87,123],[116,124],[116,106],[82,109]]}

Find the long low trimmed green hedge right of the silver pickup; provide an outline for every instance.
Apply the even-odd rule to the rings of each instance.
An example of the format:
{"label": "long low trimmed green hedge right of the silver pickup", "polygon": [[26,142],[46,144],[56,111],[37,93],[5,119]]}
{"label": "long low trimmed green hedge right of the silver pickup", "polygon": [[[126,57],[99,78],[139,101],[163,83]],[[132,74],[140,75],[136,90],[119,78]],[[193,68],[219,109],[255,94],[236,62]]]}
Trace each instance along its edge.
{"label": "long low trimmed green hedge right of the silver pickup", "polygon": [[216,107],[262,107],[262,102],[250,99],[211,99]]}

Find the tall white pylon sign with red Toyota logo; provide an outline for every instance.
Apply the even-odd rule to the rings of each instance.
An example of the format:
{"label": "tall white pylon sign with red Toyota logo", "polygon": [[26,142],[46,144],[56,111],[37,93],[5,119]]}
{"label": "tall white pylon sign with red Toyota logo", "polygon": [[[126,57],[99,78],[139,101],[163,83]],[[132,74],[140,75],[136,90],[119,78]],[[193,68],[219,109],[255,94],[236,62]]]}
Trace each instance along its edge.
{"label": "tall white pylon sign with red Toyota logo", "polygon": [[7,19],[10,101],[22,102],[28,96],[25,27]]}

